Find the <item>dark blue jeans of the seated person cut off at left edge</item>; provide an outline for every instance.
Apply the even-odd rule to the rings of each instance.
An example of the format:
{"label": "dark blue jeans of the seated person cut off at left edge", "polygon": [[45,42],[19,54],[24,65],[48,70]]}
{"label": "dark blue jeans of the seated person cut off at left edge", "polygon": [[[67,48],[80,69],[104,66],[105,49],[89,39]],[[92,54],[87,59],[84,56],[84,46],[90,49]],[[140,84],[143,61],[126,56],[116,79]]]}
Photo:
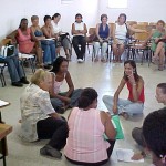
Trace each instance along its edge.
{"label": "dark blue jeans of the seated person cut off at left edge", "polygon": [[19,82],[20,79],[25,77],[23,69],[17,55],[0,59],[0,62],[7,63],[11,82]]}

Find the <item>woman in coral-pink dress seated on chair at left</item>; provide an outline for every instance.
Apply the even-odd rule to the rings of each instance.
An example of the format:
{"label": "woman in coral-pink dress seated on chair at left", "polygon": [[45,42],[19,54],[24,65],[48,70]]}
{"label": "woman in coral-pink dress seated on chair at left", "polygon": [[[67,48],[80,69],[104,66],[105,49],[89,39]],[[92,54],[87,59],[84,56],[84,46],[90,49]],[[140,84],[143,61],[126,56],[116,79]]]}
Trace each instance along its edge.
{"label": "woman in coral-pink dress seated on chair at left", "polygon": [[32,34],[30,28],[28,28],[28,20],[25,18],[21,19],[19,29],[13,31],[7,38],[12,39],[13,42],[19,44],[20,53],[37,54],[37,65],[39,68],[43,68],[42,49],[39,44],[39,41]]}

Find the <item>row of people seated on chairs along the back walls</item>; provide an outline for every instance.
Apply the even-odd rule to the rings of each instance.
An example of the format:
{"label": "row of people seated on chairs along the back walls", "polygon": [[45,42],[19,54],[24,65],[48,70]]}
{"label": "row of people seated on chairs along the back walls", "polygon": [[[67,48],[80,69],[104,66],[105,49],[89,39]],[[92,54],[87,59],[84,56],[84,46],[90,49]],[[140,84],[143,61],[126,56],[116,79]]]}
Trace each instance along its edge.
{"label": "row of people seated on chairs along the back walls", "polygon": [[[23,18],[20,25],[11,34],[7,35],[12,39],[12,44],[18,44],[15,56],[20,53],[35,54],[37,66],[51,69],[58,54],[60,54],[60,46],[63,46],[66,59],[70,61],[72,55],[72,45],[77,56],[77,62],[84,62],[86,42],[89,41],[87,28],[83,22],[82,14],[75,15],[75,22],[72,23],[72,41],[69,32],[63,32],[60,25],[61,14],[55,13],[52,18],[45,15],[43,18],[44,25],[40,28],[39,17],[31,17],[31,27],[28,27],[28,19]],[[129,32],[147,32],[146,30],[135,29],[134,25],[126,23],[126,14],[121,13],[114,27],[107,23],[107,15],[101,15],[101,23],[97,23],[95,37],[93,35],[93,48],[95,62],[100,59],[102,62],[107,62],[108,43],[111,42],[113,50],[113,62],[122,62],[121,56],[125,50],[126,41]],[[159,20],[156,29],[152,30],[147,40],[143,43],[146,45],[152,40],[152,51],[154,56],[152,62],[158,64],[158,70],[163,71],[165,68],[165,22]],[[100,58],[101,49],[101,58]],[[6,62],[9,68],[9,74],[13,86],[22,86],[27,81],[22,66],[15,56],[1,59],[0,62]],[[13,70],[11,70],[13,69]]]}

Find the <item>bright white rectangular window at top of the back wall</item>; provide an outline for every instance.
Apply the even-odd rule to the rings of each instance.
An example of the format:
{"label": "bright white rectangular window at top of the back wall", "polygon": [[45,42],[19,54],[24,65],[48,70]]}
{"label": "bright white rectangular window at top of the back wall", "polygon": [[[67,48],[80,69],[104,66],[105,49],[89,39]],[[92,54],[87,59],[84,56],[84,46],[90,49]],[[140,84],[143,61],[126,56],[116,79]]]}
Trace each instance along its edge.
{"label": "bright white rectangular window at top of the back wall", "polygon": [[108,8],[127,8],[127,0],[108,0]]}

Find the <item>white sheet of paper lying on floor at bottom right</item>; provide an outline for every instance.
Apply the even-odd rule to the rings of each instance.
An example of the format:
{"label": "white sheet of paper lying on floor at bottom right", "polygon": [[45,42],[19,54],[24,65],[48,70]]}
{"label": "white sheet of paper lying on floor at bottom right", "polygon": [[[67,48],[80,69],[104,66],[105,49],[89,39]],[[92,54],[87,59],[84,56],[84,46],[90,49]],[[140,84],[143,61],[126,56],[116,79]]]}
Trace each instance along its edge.
{"label": "white sheet of paper lying on floor at bottom right", "polygon": [[143,163],[144,162],[144,159],[133,160],[132,159],[133,155],[134,155],[134,152],[132,149],[127,149],[127,148],[117,148],[116,149],[117,160],[120,160],[120,162],[132,162],[132,163]]}

